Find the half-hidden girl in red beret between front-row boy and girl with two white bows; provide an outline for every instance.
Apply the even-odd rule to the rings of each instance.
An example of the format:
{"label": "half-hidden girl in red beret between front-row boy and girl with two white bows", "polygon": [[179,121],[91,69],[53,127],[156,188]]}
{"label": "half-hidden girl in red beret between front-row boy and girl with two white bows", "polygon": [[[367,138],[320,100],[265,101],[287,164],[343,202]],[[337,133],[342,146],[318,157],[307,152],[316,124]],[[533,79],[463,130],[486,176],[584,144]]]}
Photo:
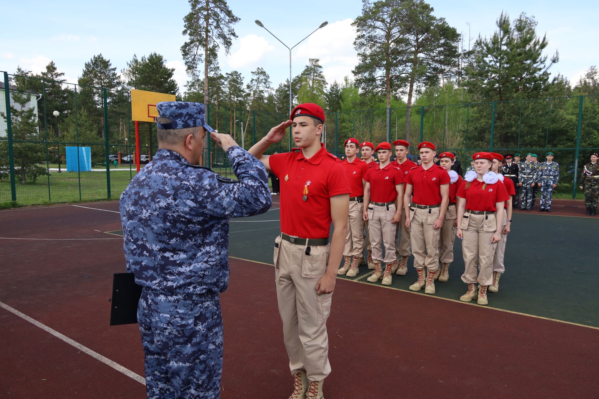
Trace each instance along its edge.
{"label": "half-hidden girl in red beret between front-row boy and girl with two white bows", "polygon": [[456,210],[456,193],[462,184],[462,176],[452,170],[455,163],[455,156],[446,151],[439,154],[439,164],[449,174],[449,205],[441,226],[439,240],[439,261],[443,266],[437,270],[434,279],[439,281],[449,280],[449,265],[453,262],[453,243],[455,243],[455,234],[458,232],[458,211]]}

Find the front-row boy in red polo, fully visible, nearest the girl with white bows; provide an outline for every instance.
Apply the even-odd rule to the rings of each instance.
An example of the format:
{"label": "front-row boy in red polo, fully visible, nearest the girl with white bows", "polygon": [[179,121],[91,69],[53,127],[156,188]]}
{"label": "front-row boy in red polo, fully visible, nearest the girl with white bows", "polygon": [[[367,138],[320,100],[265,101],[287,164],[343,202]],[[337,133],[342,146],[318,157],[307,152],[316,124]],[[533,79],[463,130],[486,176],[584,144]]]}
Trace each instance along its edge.
{"label": "front-row boy in red polo, fully visible, nearest the girl with white bows", "polygon": [[[425,294],[434,294],[441,226],[449,203],[449,175],[443,167],[434,164],[437,154],[434,144],[423,141],[418,144],[418,151],[422,164],[408,172],[404,194],[404,207],[409,214],[406,227],[410,229],[414,267],[418,272],[418,280],[409,288],[420,291],[425,287]],[[426,276],[425,270],[428,270]]]}

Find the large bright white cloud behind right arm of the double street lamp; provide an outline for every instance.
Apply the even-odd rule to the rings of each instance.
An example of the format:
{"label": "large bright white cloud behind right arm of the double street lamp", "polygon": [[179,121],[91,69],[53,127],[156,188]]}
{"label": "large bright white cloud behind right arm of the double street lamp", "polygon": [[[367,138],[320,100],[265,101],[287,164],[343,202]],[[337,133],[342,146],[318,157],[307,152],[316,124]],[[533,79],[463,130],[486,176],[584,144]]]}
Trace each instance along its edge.
{"label": "large bright white cloud behind right arm of the double street lamp", "polygon": [[329,23],[314,32],[295,52],[295,65],[297,62],[306,65],[309,58],[319,58],[329,84],[335,80],[341,83],[346,76],[353,78],[352,69],[358,64],[358,53],[353,48],[356,30],[352,22],[352,19],[345,19]]}

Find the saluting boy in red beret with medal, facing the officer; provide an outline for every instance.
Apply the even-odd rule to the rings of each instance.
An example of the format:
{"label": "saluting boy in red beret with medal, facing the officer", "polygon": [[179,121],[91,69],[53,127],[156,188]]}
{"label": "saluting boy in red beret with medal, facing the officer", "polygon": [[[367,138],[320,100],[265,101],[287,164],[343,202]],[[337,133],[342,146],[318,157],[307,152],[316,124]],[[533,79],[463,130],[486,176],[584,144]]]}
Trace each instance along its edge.
{"label": "saluting boy in red beret with medal, facing the officer", "polygon": [[[274,242],[275,286],[295,397],[322,397],[331,372],[326,319],[343,255],[351,189],[341,160],[320,139],[325,113],[300,104],[249,153],[281,181],[281,234]],[[297,148],[264,156],[292,126]],[[329,229],[333,234],[329,245]],[[330,251],[330,252],[329,252]],[[307,395],[307,396],[304,396]]]}

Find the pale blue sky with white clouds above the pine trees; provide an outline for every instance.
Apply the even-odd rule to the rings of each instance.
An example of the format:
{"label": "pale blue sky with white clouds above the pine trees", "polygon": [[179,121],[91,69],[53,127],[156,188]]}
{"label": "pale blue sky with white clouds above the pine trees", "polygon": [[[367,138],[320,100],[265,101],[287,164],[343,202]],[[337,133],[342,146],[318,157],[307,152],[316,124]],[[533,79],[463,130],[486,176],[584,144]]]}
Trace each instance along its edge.
{"label": "pale blue sky with white clouds above the pine trees", "polygon": [[[522,11],[536,17],[538,32],[546,33],[549,39],[547,53],[559,51],[559,63],[550,71],[565,75],[573,83],[589,66],[599,64],[599,2],[429,3],[436,16],[444,17],[466,39],[470,29],[473,41],[479,32],[483,36],[494,32],[495,20],[502,10],[512,17]],[[299,74],[309,57],[317,57],[329,83],[351,75],[356,53],[352,45],[355,33],[350,24],[361,13],[361,1],[303,1],[299,5],[230,0],[228,4],[241,21],[235,25],[238,39],[233,42],[231,54],[220,54],[223,73],[237,69],[247,82],[250,72],[262,66],[270,74],[273,87],[278,86],[289,77],[289,52],[254,20],[260,19],[289,47],[327,20],[328,26],[294,49],[292,73]],[[12,1],[2,8],[10,16],[2,20],[2,31],[9,32],[0,49],[2,71],[13,73],[20,65],[40,72],[49,60],[54,60],[67,80],[75,83],[84,63],[94,54],[102,53],[120,72],[134,53],[141,57],[157,51],[171,68],[176,68],[176,79],[184,90],[186,75],[180,47],[185,40],[181,32],[183,17],[189,12],[187,1]]]}

